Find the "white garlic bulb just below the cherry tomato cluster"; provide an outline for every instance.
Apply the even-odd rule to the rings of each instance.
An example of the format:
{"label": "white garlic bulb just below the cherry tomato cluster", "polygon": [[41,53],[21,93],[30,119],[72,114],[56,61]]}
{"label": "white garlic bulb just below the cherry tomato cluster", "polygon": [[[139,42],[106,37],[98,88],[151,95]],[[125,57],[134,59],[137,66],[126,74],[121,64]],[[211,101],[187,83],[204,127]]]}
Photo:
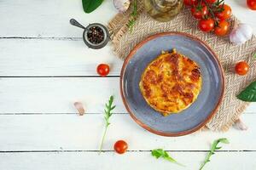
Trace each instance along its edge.
{"label": "white garlic bulb just below the cherry tomato cluster", "polygon": [[253,28],[247,24],[240,24],[230,33],[230,42],[240,45],[253,36]]}

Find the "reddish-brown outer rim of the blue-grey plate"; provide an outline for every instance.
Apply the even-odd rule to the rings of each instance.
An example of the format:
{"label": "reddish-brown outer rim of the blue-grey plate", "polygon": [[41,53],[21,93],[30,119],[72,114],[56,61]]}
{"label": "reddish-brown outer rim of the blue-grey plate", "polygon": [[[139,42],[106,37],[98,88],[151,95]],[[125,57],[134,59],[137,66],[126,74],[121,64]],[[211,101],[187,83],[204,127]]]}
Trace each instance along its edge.
{"label": "reddish-brown outer rim of the blue-grey plate", "polygon": [[[138,120],[137,117],[134,116],[134,114],[131,112],[131,110],[130,110],[128,104],[127,104],[127,101],[125,99],[125,95],[124,95],[123,78],[124,78],[124,73],[125,73],[126,65],[130,61],[130,59],[133,57],[133,55],[137,52],[137,49],[141,48],[146,42],[149,42],[149,41],[153,40],[154,38],[164,37],[164,36],[174,36],[174,35],[179,35],[179,36],[183,36],[183,37],[189,37],[190,39],[193,39],[196,42],[200,42],[205,47],[207,47],[207,49],[212,53],[213,58],[216,59],[216,61],[218,63],[218,71],[221,74],[220,81],[221,81],[221,84],[222,84],[222,87],[221,87],[222,90],[221,90],[221,94],[219,96],[217,105],[212,110],[212,112],[207,116],[207,119],[205,121],[201,122],[199,125],[191,128],[189,130],[186,130],[186,131],[177,132],[177,133],[163,133],[163,132],[160,132],[160,131],[152,129],[151,127],[148,127],[148,125],[146,125],[145,123],[143,123],[140,120]],[[214,116],[216,114],[216,112],[218,111],[219,105],[221,104],[221,101],[222,101],[222,99],[224,97],[224,84],[225,84],[225,82],[224,82],[224,70],[223,70],[223,67],[222,67],[222,65],[221,65],[221,63],[220,63],[220,61],[218,59],[218,55],[213,52],[212,48],[210,48],[210,46],[207,44],[207,42],[204,42],[201,39],[199,39],[199,38],[197,38],[197,37],[195,37],[193,35],[190,35],[189,33],[179,32],[179,31],[167,31],[167,32],[156,33],[156,34],[154,34],[152,36],[149,36],[149,37],[145,38],[142,42],[139,42],[131,50],[131,52],[127,55],[127,57],[125,58],[125,61],[124,61],[123,65],[122,65],[122,69],[121,69],[121,72],[120,72],[120,79],[119,79],[120,94],[121,94],[123,103],[125,105],[125,109],[128,111],[128,113],[131,116],[131,118],[135,122],[137,122],[138,125],[140,125],[144,129],[148,130],[149,132],[158,134],[160,136],[168,136],[168,137],[183,136],[183,135],[186,135],[186,134],[189,134],[189,133],[195,133],[201,127],[205,126],[207,124],[207,122],[209,122],[212,119],[212,116]]]}

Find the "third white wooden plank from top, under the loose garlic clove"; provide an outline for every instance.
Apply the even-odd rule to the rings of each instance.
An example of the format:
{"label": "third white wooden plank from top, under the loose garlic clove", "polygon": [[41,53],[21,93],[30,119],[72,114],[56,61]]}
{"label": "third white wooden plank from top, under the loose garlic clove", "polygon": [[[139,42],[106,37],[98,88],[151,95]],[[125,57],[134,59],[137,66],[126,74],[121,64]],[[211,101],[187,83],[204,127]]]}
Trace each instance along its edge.
{"label": "third white wooden plank from top, under the loose garlic clove", "polygon": [[[0,114],[75,113],[75,101],[86,112],[101,113],[110,95],[115,113],[126,113],[119,93],[119,77],[4,77],[0,78]],[[248,112],[255,111],[252,105]]]}

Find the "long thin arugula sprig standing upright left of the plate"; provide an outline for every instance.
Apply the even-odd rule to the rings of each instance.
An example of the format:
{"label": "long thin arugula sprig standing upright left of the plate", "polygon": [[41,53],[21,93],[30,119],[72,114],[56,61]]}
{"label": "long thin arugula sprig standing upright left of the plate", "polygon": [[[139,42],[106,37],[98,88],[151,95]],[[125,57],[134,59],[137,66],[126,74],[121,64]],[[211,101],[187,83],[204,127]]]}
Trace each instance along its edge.
{"label": "long thin arugula sprig standing upright left of the plate", "polygon": [[105,109],[104,109],[104,112],[105,112],[105,116],[104,116],[104,119],[105,119],[105,131],[103,133],[103,137],[102,137],[102,144],[101,144],[101,147],[100,147],[100,154],[102,152],[102,146],[103,146],[103,142],[104,142],[104,139],[105,139],[105,136],[106,136],[106,133],[107,133],[107,129],[108,129],[108,126],[110,125],[110,122],[109,122],[109,118],[110,116],[112,116],[112,112],[113,109],[115,108],[115,105],[113,105],[113,95],[110,96],[109,100],[108,100],[108,104],[105,104]]}

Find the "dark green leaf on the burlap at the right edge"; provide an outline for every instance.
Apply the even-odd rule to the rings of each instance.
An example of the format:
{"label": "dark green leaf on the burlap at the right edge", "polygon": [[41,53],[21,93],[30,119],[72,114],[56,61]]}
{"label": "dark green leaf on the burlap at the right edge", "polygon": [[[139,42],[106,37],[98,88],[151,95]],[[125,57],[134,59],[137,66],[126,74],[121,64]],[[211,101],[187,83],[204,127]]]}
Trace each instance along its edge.
{"label": "dark green leaf on the burlap at the right edge", "polygon": [[252,82],[247,88],[241,91],[240,94],[237,96],[238,99],[242,101],[256,101],[256,81]]}

